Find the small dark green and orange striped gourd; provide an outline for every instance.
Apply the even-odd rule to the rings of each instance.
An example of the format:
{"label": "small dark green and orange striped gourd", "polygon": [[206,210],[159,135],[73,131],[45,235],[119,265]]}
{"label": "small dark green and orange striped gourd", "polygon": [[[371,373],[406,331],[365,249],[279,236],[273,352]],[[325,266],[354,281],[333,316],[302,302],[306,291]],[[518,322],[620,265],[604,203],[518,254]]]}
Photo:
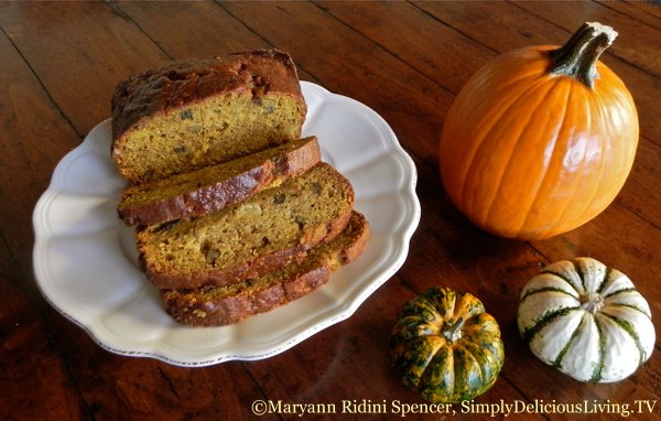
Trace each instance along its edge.
{"label": "small dark green and orange striped gourd", "polygon": [[402,307],[390,352],[403,384],[438,403],[484,393],[505,360],[496,320],[474,295],[447,288],[430,289]]}

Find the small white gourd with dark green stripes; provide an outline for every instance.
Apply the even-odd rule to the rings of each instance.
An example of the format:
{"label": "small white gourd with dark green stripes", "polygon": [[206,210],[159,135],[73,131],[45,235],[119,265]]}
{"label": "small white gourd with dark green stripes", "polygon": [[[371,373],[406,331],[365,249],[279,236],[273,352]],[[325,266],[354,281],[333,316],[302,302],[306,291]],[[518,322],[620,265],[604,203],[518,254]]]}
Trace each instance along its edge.
{"label": "small white gourd with dark green stripes", "polygon": [[657,338],[649,304],[631,280],[592,258],[543,269],[521,291],[517,319],[532,353],[579,381],[628,377]]}

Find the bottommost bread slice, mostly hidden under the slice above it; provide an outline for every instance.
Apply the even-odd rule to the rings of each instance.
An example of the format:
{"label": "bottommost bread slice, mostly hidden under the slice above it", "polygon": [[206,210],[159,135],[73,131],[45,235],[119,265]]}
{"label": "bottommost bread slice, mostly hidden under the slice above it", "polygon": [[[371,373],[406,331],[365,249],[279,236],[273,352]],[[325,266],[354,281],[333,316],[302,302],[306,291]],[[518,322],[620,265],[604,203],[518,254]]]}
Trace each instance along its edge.
{"label": "bottommost bread slice, mostly hidden under the slice above it", "polygon": [[356,259],[369,238],[369,224],[354,212],[345,230],[312,249],[301,263],[227,287],[161,290],[165,311],[193,326],[221,326],[294,301],[326,283],[330,273]]}

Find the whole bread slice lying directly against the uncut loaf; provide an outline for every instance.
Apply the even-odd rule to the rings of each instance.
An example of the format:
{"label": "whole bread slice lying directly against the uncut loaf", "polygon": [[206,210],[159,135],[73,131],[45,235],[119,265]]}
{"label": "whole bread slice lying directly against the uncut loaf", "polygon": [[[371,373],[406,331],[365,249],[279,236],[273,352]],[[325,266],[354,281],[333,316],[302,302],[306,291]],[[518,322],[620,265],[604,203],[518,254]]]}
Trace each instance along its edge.
{"label": "whole bread slice lying directly against the uncut loaf", "polygon": [[117,206],[129,226],[201,216],[301,175],[321,160],[315,137],[127,188]]}

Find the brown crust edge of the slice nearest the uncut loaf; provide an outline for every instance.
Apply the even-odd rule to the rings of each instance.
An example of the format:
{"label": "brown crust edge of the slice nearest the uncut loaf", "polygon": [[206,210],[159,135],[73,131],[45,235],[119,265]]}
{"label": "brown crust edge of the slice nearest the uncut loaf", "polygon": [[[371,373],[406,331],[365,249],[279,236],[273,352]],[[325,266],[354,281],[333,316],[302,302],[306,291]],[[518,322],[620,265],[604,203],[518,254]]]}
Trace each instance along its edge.
{"label": "brown crust edge of the slice nearest the uncut loaf", "polygon": [[[129,187],[118,205],[118,215],[128,226],[153,225],[205,215],[239,203],[269,187],[274,182],[304,173],[319,162],[322,154],[316,137],[308,137],[302,139],[302,141],[305,142],[300,148],[285,150],[281,154],[273,156],[264,154],[263,160],[256,162],[252,168],[237,172],[229,179],[195,185],[189,191],[160,197],[156,201],[140,204],[129,202],[132,195],[140,192],[161,188],[164,181]],[[216,166],[231,165],[236,161]],[[195,179],[195,173],[206,170],[203,169],[183,175]],[[167,179],[165,183],[176,184],[180,179],[182,176],[174,175]]]}

